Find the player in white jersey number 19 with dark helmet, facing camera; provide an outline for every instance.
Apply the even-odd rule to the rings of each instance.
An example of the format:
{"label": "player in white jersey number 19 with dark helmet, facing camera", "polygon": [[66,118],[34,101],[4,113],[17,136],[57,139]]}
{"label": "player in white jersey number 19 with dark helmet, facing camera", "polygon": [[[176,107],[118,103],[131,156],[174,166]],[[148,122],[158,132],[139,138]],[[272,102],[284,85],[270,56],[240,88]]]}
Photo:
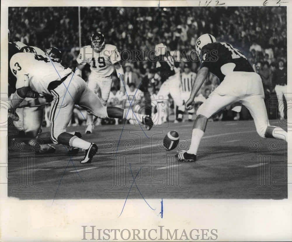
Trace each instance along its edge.
{"label": "player in white jersey number 19 with dark helmet, facing camera", "polygon": [[[120,90],[124,90],[124,71],[120,64],[121,57],[114,45],[105,44],[105,36],[98,32],[91,36],[91,45],[86,45],[80,49],[77,58],[78,66],[75,74],[81,77],[81,70],[87,64],[90,65],[91,73],[88,77],[87,86],[89,89],[98,93],[101,91],[100,100],[102,105],[106,105],[109,98],[110,88],[112,87],[112,73],[114,69],[117,71],[117,76],[120,79]],[[124,92],[124,91],[123,91]],[[94,128],[93,115],[87,113],[87,128],[86,134],[92,133]]]}

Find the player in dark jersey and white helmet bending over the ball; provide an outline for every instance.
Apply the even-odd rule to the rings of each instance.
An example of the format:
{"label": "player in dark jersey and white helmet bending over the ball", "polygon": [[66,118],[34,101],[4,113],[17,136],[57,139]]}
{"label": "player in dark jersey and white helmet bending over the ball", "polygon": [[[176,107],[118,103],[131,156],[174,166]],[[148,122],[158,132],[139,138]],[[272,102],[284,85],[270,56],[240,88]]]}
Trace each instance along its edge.
{"label": "player in dark jersey and white helmet bending over the ball", "polygon": [[270,126],[264,102],[264,90],[260,76],[253,70],[246,57],[232,45],[216,42],[210,34],[201,35],[196,42],[196,51],[201,59],[190,98],[185,107],[194,107],[194,98],[202,86],[208,72],[218,77],[220,85],[199,107],[193,125],[190,148],[178,154],[180,161],[196,161],[197,149],[204,135],[207,120],[226,106],[239,102],[248,108],[260,137],[283,139],[287,142],[287,132],[280,127]]}

